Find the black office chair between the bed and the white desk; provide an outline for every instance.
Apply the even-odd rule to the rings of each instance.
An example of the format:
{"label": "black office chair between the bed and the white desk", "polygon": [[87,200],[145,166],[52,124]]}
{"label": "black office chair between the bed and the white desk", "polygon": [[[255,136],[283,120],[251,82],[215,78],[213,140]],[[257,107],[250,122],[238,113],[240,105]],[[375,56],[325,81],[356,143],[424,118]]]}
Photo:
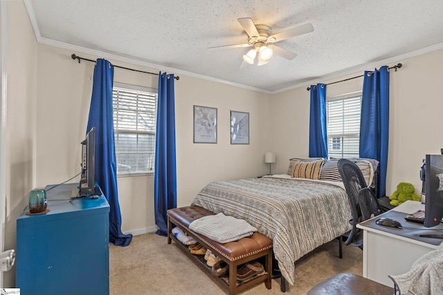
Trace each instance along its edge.
{"label": "black office chair between the bed and the white desk", "polygon": [[359,166],[347,159],[340,159],[337,163],[341,180],[345,184],[347,199],[351,207],[352,219],[350,224],[352,229],[345,240],[345,245],[352,245],[363,249],[363,231],[356,225],[372,216],[383,213],[374,192],[366,185],[363,173]]}

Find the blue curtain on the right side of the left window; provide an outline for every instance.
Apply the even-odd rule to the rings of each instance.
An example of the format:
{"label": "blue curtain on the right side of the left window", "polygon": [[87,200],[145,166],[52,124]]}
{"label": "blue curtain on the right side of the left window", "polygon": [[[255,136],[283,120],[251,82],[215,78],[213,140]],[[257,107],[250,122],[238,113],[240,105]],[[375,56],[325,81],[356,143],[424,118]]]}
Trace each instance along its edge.
{"label": "blue curtain on the right side of the left window", "polygon": [[156,234],[168,235],[166,211],[177,207],[175,164],[174,75],[159,73],[159,102],[155,138],[154,211]]}

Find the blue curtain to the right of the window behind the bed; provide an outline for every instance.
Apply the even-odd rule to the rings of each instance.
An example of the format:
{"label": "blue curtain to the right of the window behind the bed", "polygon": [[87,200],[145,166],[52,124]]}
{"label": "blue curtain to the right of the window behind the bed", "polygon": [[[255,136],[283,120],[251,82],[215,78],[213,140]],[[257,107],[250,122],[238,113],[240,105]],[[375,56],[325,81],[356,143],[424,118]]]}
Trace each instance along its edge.
{"label": "blue curtain to the right of the window behind the bed", "polygon": [[365,72],[361,98],[360,157],[379,160],[378,196],[386,194],[389,142],[388,66]]}

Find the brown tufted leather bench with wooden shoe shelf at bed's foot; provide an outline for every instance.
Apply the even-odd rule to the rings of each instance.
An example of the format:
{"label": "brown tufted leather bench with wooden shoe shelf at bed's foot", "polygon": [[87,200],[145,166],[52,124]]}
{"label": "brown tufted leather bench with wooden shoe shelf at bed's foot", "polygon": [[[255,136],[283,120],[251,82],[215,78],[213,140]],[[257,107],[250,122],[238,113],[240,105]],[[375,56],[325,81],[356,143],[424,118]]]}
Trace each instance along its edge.
{"label": "brown tufted leather bench with wooden shoe shelf at bed's foot", "polygon": [[[252,236],[247,238],[241,238],[233,242],[219,243],[191,231],[189,225],[192,221],[201,218],[203,216],[215,215],[215,213],[208,211],[202,207],[188,206],[181,208],[174,208],[168,210],[168,244],[174,239],[177,245],[182,246],[186,253],[190,254],[188,247],[183,245],[177,239],[175,239],[174,234],[172,234],[172,227],[176,225],[183,231],[186,231],[192,238],[195,238],[206,249],[210,249],[213,254],[218,256],[221,260],[224,260],[229,266],[228,283],[213,274],[210,267],[206,265],[206,261],[202,261],[197,256],[190,254],[195,257],[195,261],[204,265],[213,276],[219,278],[222,282],[221,285],[228,287],[229,294],[237,294],[242,290],[251,287],[257,283],[264,281],[266,288],[271,289],[271,278],[272,278],[272,240],[266,236],[255,232]],[[252,280],[248,280],[246,283],[237,283],[237,266],[243,263],[248,263],[257,258],[264,258],[264,270],[266,272],[263,276],[257,276]],[[231,283],[235,282],[235,283]]]}

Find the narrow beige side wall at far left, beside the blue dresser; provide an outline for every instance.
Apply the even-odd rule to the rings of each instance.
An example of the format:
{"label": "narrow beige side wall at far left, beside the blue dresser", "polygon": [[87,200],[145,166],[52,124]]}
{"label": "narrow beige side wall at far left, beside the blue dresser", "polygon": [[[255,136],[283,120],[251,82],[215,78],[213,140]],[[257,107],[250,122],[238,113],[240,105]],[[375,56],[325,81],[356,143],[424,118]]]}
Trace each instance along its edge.
{"label": "narrow beige side wall at far left, beside the blue dresser", "polygon": [[[5,4],[5,3],[3,3]],[[35,186],[37,41],[21,1],[7,1],[6,224],[4,249],[16,248],[16,219]],[[1,287],[15,286],[15,267]]]}

